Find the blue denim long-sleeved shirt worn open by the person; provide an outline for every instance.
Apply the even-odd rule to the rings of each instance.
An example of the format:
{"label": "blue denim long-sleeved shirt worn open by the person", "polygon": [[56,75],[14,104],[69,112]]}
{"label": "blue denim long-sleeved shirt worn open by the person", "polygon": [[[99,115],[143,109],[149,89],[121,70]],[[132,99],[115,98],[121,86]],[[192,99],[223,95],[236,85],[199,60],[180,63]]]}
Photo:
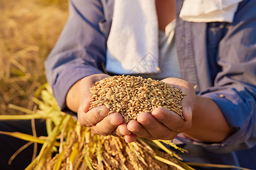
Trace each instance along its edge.
{"label": "blue denim long-sleeved shirt worn open by the person", "polygon": [[[176,50],[181,78],[209,97],[235,131],[222,143],[203,145],[210,162],[256,167],[256,1],[244,0],[232,23],[192,23],[179,18]],[[49,54],[47,79],[62,110],[81,78],[104,73],[114,0],[71,0],[69,19]],[[222,97],[221,97],[222,96]],[[216,122],[217,124],[218,122]],[[240,150],[240,151],[237,151]],[[237,151],[237,152],[235,152]]]}

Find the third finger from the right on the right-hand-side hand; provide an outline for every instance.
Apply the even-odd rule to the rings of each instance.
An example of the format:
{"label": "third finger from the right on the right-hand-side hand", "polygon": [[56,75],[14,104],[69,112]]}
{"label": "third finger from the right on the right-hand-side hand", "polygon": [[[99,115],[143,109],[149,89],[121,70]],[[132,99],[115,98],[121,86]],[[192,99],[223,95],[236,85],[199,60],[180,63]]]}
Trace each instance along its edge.
{"label": "third finger from the right on the right-hand-side hand", "polygon": [[139,124],[137,120],[131,120],[127,124],[127,129],[131,131],[131,133],[137,135],[138,137],[153,139],[152,135],[148,133],[148,131],[143,128],[142,125]]}

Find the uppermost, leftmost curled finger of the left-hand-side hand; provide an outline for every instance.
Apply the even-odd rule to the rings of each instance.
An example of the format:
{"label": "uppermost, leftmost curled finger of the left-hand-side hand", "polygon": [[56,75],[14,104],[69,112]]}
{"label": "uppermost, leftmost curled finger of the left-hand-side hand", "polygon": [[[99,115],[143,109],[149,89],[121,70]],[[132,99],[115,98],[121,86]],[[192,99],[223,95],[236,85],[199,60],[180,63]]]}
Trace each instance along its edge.
{"label": "uppermost, leftmost curled finger of the left-hand-side hand", "polygon": [[87,113],[81,111],[81,108],[79,108],[77,116],[82,126],[90,127],[95,126],[98,122],[102,121],[106,116],[108,116],[108,113],[109,109],[105,105],[101,105],[90,109]]}

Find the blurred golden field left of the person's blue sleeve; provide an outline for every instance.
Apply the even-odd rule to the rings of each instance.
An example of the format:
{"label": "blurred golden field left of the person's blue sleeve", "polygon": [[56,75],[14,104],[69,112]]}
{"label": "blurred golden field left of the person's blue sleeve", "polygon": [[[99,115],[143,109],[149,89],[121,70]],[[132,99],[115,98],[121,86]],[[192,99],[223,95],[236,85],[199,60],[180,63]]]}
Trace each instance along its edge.
{"label": "blurred golden field left of the person's blue sleeve", "polygon": [[0,1],[0,114],[32,110],[46,83],[44,60],[68,18],[68,0]]}

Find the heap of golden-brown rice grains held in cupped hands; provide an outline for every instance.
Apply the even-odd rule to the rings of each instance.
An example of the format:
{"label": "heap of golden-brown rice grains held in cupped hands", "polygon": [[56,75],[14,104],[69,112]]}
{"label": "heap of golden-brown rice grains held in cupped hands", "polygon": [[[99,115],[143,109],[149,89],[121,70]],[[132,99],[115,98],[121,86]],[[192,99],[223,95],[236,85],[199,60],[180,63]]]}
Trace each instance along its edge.
{"label": "heap of golden-brown rice grains held in cupped hands", "polygon": [[106,105],[109,114],[122,114],[123,122],[137,119],[142,112],[151,113],[154,108],[167,108],[182,118],[184,93],[167,83],[141,76],[109,76],[90,88],[90,109]]}

